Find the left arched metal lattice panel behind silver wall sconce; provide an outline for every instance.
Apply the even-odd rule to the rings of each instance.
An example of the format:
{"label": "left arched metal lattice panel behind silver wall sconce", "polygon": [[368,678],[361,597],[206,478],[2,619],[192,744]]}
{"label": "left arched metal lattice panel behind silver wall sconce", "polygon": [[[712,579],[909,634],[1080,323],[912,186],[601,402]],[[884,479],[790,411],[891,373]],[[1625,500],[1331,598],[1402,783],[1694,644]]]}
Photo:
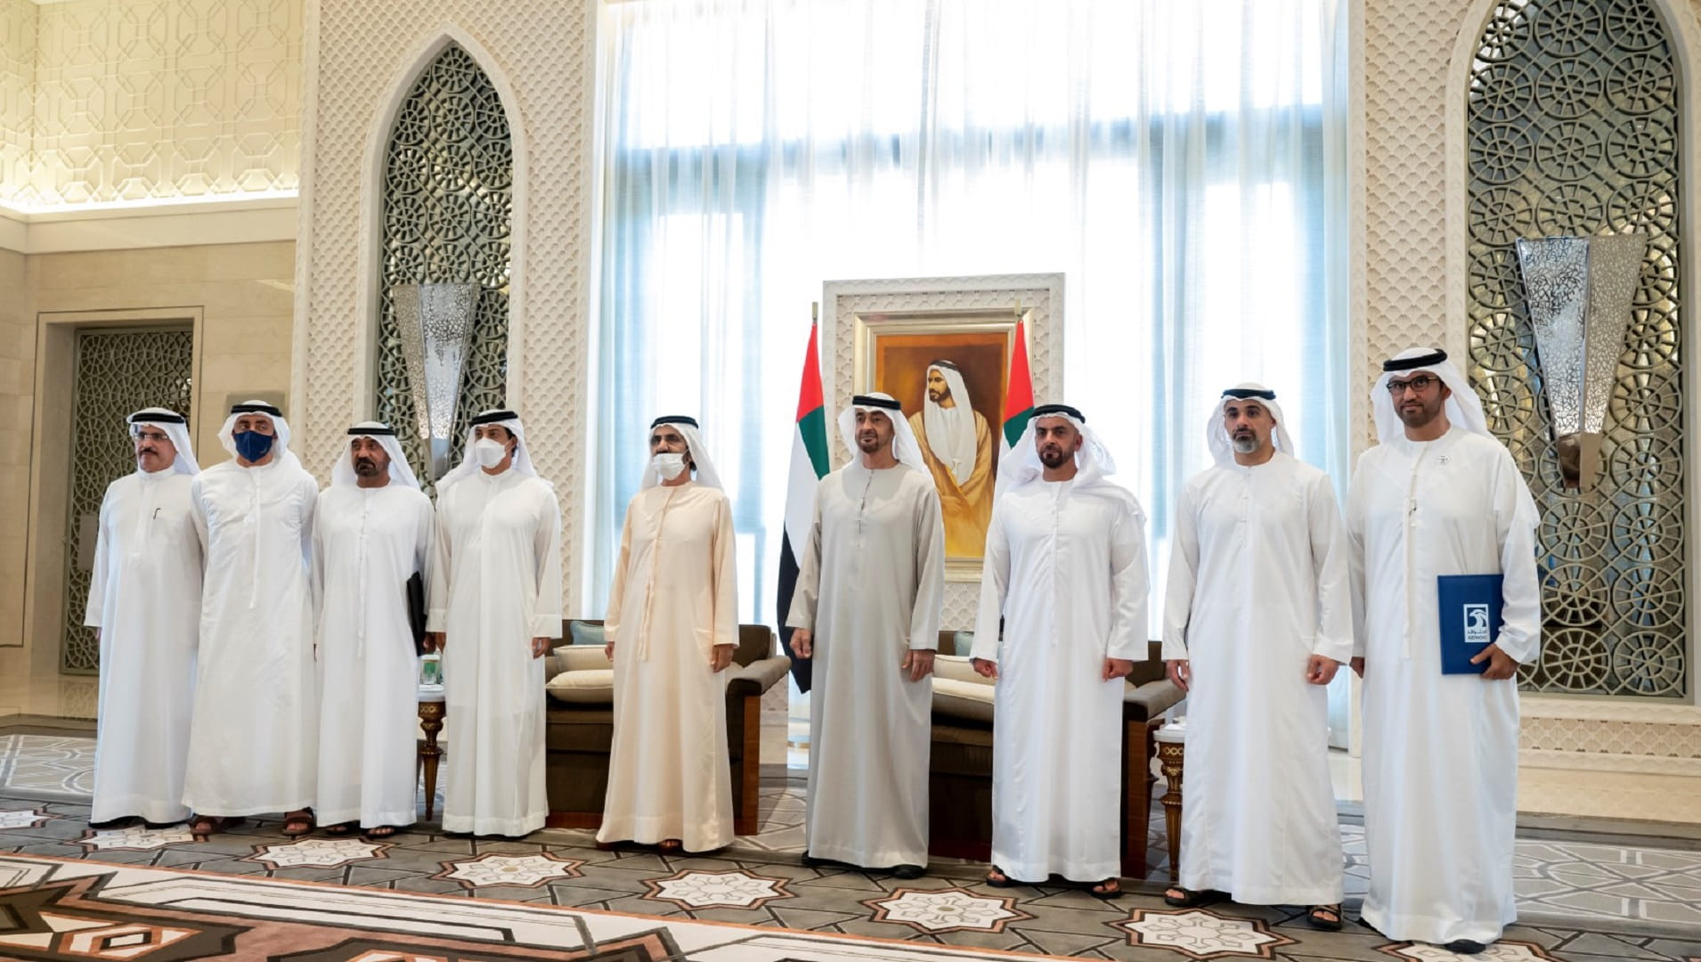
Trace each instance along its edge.
{"label": "left arched metal lattice panel behind silver wall sconce", "polygon": [[459,460],[468,419],[502,407],[509,352],[509,249],[514,148],[502,97],[459,46],[420,75],[396,114],[384,158],[383,276],[378,318],[378,419],[422,478],[430,455],[415,424],[407,358],[390,300],[393,284],[478,284],[473,342],[461,373],[451,451]]}

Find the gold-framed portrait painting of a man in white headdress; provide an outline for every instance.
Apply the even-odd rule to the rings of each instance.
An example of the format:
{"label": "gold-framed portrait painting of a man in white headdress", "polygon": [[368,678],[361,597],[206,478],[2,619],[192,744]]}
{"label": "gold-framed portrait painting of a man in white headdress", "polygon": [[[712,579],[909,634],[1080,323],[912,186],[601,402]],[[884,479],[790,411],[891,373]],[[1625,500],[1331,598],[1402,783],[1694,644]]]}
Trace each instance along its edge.
{"label": "gold-framed portrait painting of a man in white headdress", "polygon": [[[1019,301],[1002,308],[862,310],[850,315],[852,390],[885,392],[898,398],[939,489],[946,581],[980,581],[998,477],[1015,324],[1022,320],[1031,327],[1031,315],[1033,308],[1022,308]],[[971,422],[944,414],[963,404],[958,393],[968,395],[966,407],[975,414]],[[970,436],[973,456],[968,455]]]}

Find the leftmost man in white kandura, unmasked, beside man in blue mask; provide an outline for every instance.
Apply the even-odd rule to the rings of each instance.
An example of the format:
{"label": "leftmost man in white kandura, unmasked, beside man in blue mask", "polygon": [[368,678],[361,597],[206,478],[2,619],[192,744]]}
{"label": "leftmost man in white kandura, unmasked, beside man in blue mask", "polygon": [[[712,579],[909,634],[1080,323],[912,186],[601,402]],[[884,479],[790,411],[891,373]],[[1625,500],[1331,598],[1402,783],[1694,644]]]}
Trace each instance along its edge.
{"label": "leftmost man in white kandura, unmasked, beside man in blue mask", "polygon": [[95,826],[189,817],[184,761],[201,630],[201,533],[191,518],[196,455],[184,415],[129,415],[136,472],[107,485],[83,625],[100,640]]}

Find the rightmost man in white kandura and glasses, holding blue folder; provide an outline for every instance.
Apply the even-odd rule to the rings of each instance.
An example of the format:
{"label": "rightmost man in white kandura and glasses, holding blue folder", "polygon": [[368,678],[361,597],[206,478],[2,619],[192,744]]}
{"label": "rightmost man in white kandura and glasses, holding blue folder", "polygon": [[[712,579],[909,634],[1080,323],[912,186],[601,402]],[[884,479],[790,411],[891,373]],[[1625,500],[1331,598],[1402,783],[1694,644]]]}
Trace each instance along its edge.
{"label": "rightmost man in white kandura and glasses, holding blue folder", "polygon": [[[1347,497],[1364,676],[1364,921],[1475,953],[1517,918],[1517,674],[1541,645],[1536,504],[1446,351],[1383,363]],[[1441,673],[1437,577],[1502,575],[1499,637]]]}

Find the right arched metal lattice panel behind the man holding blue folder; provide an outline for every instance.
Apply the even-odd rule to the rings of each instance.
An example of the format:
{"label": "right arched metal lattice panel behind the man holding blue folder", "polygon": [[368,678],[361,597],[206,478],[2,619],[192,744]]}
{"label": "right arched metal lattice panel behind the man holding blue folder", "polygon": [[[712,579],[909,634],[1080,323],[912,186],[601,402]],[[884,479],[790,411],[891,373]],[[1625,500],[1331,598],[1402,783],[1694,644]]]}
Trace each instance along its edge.
{"label": "right arched metal lattice panel behind the man holding blue folder", "polygon": [[[1677,66],[1648,0],[1504,0],[1468,92],[1470,376],[1541,507],[1539,691],[1689,691]],[[1565,490],[1512,242],[1650,238],[1599,489]]]}

